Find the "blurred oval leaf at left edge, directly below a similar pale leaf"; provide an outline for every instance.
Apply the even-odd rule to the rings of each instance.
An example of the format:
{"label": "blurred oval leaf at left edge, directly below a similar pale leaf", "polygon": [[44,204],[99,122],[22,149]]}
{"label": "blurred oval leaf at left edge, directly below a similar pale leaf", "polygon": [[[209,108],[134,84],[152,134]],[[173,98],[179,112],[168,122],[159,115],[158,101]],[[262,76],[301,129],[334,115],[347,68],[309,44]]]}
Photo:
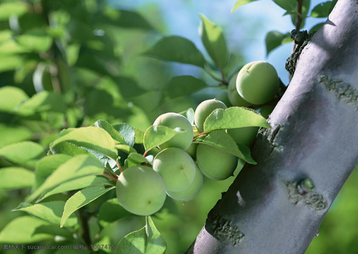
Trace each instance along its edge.
{"label": "blurred oval leaf at left edge, directly below a similar pale leaf", "polygon": [[7,167],[0,169],[0,190],[20,189],[32,187],[34,172],[21,167]]}

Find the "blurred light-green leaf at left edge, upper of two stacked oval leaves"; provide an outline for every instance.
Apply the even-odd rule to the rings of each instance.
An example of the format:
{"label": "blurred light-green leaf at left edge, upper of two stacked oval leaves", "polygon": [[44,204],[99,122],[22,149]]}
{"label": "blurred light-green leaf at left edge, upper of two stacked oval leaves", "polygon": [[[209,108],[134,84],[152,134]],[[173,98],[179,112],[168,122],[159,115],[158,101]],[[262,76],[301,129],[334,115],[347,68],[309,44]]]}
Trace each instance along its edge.
{"label": "blurred light-green leaf at left edge, upper of two stacked oval leaves", "polygon": [[42,145],[31,141],[15,143],[0,148],[0,156],[5,157],[16,165],[30,168],[34,168],[37,160],[45,155],[45,149]]}

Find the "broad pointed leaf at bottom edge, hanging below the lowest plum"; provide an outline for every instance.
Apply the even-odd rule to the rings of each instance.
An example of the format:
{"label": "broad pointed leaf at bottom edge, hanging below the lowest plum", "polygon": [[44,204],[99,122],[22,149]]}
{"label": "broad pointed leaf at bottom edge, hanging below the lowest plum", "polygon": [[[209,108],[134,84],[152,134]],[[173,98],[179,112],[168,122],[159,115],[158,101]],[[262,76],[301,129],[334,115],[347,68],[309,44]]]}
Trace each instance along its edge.
{"label": "broad pointed leaf at bottom edge, hanging below the lowest plum", "polygon": [[156,229],[151,217],[146,216],[146,225],[122,238],[115,253],[163,254],[166,246],[163,236]]}

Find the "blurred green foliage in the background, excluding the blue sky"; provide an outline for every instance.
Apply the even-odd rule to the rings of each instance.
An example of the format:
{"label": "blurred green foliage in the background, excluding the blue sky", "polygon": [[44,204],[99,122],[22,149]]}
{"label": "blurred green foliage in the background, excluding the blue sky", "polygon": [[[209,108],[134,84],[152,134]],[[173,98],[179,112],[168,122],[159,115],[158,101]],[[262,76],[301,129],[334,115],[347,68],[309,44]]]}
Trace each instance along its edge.
{"label": "blurred green foliage in the background, excluding the blue sky", "polygon": [[[203,20],[204,25],[211,25]],[[146,9],[146,16],[142,16],[136,11],[115,9],[100,0],[0,1],[0,149],[32,140],[47,152],[62,129],[89,126],[98,119],[111,124],[125,122],[145,130],[160,114],[195,108],[200,101],[223,94],[225,90],[220,87],[209,88],[193,77],[172,79],[175,70],[170,64],[142,54],[158,41],[163,27],[161,13],[153,5]],[[224,59],[214,56],[213,60],[228,61],[222,70],[226,80],[242,64],[242,59],[233,54]],[[213,66],[211,62],[208,65]],[[204,80],[208,76],[203,75],[203,70],[198,71],[198,75]],[[181,88],[185,90],[178,89],[179,81],[194,82],[195,87],[184,83]],[[168,88],[168,84],[173,83],[176,86],[173,91],[177,93],[174,97]],[[204,86],[200,93],[196,92]],[[144,152],[139,147],[136,149]],[[0,168],[13,166],[0,157]],[[306,253],[358,252],[357,178],[355,170],[325,217],[320,235]],[[208,212],[233,179],[218,182],[205,178],[198,197],[185,205],[166,199],[164,208],[152,216],[168,243],[166,253],[184,253],[188,249]],[[32,181],[30,176],[28,180]],[[26,181],[21,184],[29,186]],[[12,190],[11,184],[0,184],[0,187],[2,230],[16,217],[25,215],[10,210],[29,195],[30,188]],[[43,201],[66,201],[72,195],[72,192],[59,193]],[[115,201],[115,193],[109,191],[86,205],[93,243],[118,243],[145,225],[144,217],[125,214]],[[118,217],[107,213],[117,210]],[[79,230],[79,226],[75,229]],[[40,232],[45,235],[44,240],[28,245],[69,245],[70,250],[46,253],[71,253],[73,244],[81,244],[68,229],[54,230],[55,238],[48,237],[48,230],[54,229]],[[0,252],[29,253],[27,250]],[[73,252],[81,253],[81,250]]]}

